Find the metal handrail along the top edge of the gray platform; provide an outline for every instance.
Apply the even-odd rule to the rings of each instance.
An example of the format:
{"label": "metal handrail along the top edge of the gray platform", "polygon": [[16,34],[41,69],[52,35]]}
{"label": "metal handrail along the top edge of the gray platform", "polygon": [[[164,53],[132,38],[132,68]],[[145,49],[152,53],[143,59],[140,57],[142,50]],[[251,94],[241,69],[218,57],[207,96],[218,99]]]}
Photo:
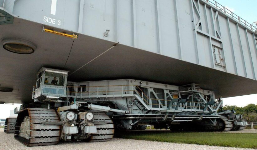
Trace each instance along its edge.
{"label": "metal handrail along the top edge of the gray platform", "polygon": [[225,6],[223,6],[220,3],[218,3],[216,0],[203,0],[203,1],[206,1],[207,3],[213,5],[214,7],[219,9],[220,11],[224,12],[225,14],[227,14],[229,17],[235,19],[239,23],[242,23],[245,27],[247,27],[248,29],[252,30],[253,32],[257,32],[257,28],[256,27],[254,27],[252,24],[250,24],[249,22],[247,22],[243,18],[241,18],[238,15],[236,15],[235,13],[233,13],[231,10],[229,10]]}

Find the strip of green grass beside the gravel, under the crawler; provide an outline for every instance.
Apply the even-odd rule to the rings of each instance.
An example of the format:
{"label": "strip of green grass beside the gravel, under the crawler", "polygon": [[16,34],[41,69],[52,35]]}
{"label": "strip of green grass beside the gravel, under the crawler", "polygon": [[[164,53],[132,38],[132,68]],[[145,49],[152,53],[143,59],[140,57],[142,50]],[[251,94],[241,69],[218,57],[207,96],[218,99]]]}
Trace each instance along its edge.
{"label": "strip of green grass beside the gravel, under the crawler", "polygon": [[253,133],[173,133],[159,131],[131,131],[126,133],[116,133],[116,137],[171,143],[257,148],[257,134]]}

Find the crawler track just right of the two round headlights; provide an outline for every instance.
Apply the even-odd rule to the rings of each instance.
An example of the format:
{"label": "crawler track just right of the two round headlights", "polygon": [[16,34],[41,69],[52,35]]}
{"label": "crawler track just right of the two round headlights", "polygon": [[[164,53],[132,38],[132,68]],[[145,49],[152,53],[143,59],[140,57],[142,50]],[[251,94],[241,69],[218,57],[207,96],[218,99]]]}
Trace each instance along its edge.
{"label": "crawler track just right of the two round headlights", "polygon": [[114,135],[114,124],[111,118],[104,112],[92,111],[97,133],[93,133],[88,142],[110,141]]}

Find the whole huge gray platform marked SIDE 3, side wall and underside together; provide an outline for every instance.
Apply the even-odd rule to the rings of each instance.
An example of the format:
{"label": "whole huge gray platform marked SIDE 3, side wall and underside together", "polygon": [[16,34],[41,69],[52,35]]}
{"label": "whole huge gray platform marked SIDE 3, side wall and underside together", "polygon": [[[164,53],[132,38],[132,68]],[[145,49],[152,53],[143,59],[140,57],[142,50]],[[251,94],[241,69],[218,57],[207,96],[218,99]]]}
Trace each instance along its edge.
{"label": "whole huge gray platform marked SIDE 3, side wall and underside together", "polygon": [[[11,93],[0,92],[0,102],[31,102],[32,87],[41,67],[68,70],[71,74],[116,42],[120,43],[73,73],[68,81],[133,78],[178,86],[197,83],[204,89],[213,90],[216,97],[223,98],[257,93],[254,30],[244,27],[242,22],[223,12],[217,11],[217,14],[217,8],[202,0],[167,1],[166,4],[170,3],[168,8],[164,8],[162,1],[99,1],[99,5],[107,6],[98,8],[98,4],[93,4],[92,8],[89,1],[66,0],[61,4],[57,1],[56,15],[50,14],[50,1],[45,5],[39,5],[39,1],[29,1],[31,5],[38,5],[25,9],[29,7],[27,1],[14,3],[7,0],[4,8],[0,8],[14,16],[12,24],[0,25],[0,38],[18,37],[37,46],[35,52],[28,55],[11,53],[0,47],[0,84],[1,87],[14,89]],[[112,2],[115,5],[111,7]],[[126,2],[131,7],[126,7]],[[76,5],[76,12],[63,11],[69,5]],[[145,6],[141,8],[141,5]],[[129,13],[125,13],[123,7],[134,12],[128,10]],[[148,12],[153,8],[158,8],[159,15]],[[106,12],[102,17],[106,15],[106,20],[96,20],[103,9]],[[167,16],[168,12],[163,10],[171,11],[174,16]],[[200,28],[197,10],[202,20]],[[109,14],[108,11],[114,12]],[[95,17],[90,17],[93,14]],[[218,19],[218,23],[211,19],[211,15],[213,19]],[[44,22],[44,16],[56,17],[57,20],[62,18],[63,24],[58,26]],[[144,21],[144,18],[153,16],[154,20]],[[167,21],[169,17],[171,22]],[[154,25],[147,28],[153,22]],[[68,34],[78,33],[79,37],[71,40],[42,32],[44,25],[45,28]],[[110,29],[108,37],[103,36],[106,29]],[[223,50],[221,56],[224,61],[221,65],[215,62],[213,45]]]}

